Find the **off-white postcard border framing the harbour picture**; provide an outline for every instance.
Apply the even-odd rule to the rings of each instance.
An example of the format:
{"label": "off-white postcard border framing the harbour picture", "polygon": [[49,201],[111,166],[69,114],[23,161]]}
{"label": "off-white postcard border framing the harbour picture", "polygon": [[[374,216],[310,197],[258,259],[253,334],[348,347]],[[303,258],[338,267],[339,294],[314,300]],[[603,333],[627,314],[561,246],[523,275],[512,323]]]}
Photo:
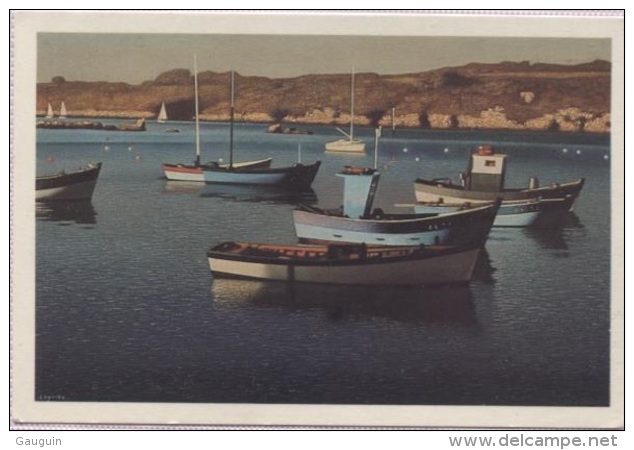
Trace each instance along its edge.
{"label": "off-white postcard border framing the harbour picture", "polygon": [[[15,425],[605,428],[624,426],[624,18],[422,13],[16,12],[13,77],[12,420]],[[72,403],[34,400],[37,33],[187,33],[612,39],[610,407]],[[19,175],[19,176],[18,176]]]}

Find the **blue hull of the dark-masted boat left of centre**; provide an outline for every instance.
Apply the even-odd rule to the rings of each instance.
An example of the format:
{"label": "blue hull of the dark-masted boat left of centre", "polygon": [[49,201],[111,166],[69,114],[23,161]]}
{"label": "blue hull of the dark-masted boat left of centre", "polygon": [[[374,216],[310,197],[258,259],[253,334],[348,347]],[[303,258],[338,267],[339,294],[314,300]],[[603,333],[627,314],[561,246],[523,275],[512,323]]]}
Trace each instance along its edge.
{"label": "blue hull of the dark-masted boat left of centre", "polygon": [[315,180],[321,165],[317,161],[312,165],[295,164],[289,167],[273,169],[241,169],[229,168],[205,169],[203,176],[210,184],[237,184],[280,186],[294,189],[309,189]]}

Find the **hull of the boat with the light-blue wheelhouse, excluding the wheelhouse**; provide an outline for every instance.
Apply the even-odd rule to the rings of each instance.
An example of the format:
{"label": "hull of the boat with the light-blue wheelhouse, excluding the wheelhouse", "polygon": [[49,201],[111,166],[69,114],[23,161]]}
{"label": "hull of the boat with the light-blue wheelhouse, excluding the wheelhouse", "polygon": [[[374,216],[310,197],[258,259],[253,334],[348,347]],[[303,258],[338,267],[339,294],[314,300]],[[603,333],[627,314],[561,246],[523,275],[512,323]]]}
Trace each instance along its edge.
{"label": "hull of the boat with the light-blue wheelhouse, excluding the wheelhouse", "polygon": [[316,208],[293,211],[300,242],[351,242],[376,245],[484,245],[498,204],[447,214],[389,214],[352,219]]}

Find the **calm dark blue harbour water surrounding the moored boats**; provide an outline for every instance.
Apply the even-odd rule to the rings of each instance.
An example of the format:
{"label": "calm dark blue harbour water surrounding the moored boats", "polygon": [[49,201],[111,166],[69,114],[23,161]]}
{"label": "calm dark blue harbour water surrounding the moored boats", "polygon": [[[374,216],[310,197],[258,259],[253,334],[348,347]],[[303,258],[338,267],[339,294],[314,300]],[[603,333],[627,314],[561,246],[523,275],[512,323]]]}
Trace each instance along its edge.
{"label": "calm dark blue harbour water surrounding the moored boats", "polygon": [[[181,133],[165,133],[170,127]],[[219,241],[295,242],[297,202],[341,204],[344,164],[314,135],[236,128],[236,160],[322,168],[306,194],[168,183],[194,157],[189,123],[144,133],[38,130],[38,173],[103,161],[92,203],[37,209],[36,394],[112,402],[455,405],[609,403],[607,139],[389,132],[376,206],[414,201],[469,151],[510,155],[509,186],[586,178],[560,229],[494,229],[469,287],[381,288],[213,280]],[[373,131],[360,129],[368,148]],[[227,124],[203,124],[203,160],[228,160]],[[567,151],[564,151],[567,150]],[[51,158],[52,157],[52,158]],[[54,163],[51,160],[54,158]]]}

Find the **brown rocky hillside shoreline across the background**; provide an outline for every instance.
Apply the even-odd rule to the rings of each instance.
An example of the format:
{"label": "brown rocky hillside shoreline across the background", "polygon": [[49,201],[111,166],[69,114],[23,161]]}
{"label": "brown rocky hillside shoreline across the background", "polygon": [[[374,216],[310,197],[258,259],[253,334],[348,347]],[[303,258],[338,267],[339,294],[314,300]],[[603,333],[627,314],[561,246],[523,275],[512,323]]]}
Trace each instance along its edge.
{"label": "brown rocky hillside shoreline across the background", "polygon": [[[423,73],[355,77],[355,123],[398,127],[610,130],[610,71],[606,61],[574,66],[504,62]],[[229,119],[229,73],[198,75],[202,120]],[[193,80],[186,69],[140,85],[66,81],[37,85],[37,111],[66,103],[70,116],[155,118],[165,102],[175,120],[193,117]],[[350,75],[271,79],[236,74],[236,120],[346,125]]]}

